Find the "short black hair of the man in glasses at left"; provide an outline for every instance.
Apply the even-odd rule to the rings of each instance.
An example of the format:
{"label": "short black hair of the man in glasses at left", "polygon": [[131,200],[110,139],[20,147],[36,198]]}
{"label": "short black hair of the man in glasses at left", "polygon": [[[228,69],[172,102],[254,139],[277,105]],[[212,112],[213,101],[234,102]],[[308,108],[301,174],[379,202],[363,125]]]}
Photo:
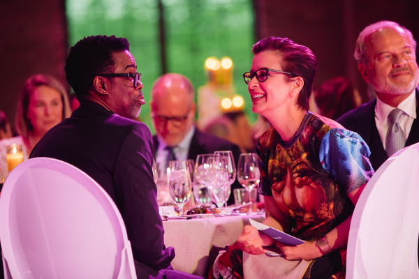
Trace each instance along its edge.
{"label": "short black hair of the man in glasses at left", "polygon": [[129,50],[126,38],[101,35],[84,37],[71,47],[64,70],[76,95],[87,94],[96,75],[113,73],[112,52],[124,50]]}

